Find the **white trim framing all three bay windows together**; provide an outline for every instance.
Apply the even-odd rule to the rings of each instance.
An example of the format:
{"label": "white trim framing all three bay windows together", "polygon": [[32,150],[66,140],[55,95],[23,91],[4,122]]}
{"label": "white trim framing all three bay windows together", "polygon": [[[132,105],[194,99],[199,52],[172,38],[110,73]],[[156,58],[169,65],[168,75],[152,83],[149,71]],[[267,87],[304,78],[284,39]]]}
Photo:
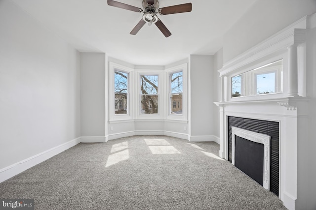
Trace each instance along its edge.
{"label": "white trim framing all three bay windows together", "polygon": [[[188,121],[188,63],[166,69],[134,69],[109,61],[109,123],[147,121],[169,121],[187,123]],[[128,114],[115,115],[114,76],[115,70],[129,74],[128,81]],[[169,74],[183,72],[182,115],[169,113]],[[158,114],[140,113],[140,75],[158,75]]]}

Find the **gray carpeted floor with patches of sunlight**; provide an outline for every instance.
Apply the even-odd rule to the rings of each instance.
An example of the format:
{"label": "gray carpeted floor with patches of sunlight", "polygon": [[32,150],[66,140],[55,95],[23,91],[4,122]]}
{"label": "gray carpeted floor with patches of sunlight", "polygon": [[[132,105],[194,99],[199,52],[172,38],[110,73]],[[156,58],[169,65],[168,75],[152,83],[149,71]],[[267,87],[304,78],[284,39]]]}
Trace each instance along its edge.
{"label": "gray carpeted floor with patches of sunlight", "polygon": [[286,210],[213,142],[133,136],[81,143],[0,183],[36,210]]}

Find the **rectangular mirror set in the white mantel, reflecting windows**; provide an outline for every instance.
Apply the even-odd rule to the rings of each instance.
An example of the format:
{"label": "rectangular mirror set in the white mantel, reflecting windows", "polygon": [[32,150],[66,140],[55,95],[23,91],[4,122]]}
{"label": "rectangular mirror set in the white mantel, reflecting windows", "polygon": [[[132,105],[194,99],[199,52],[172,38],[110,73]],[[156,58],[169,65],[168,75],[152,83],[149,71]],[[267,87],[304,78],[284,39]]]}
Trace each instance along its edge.
{"label": "rectangular mirror set in the white mantel, reflecting windows", "polygon": [[282,92],[282,60],[232,77],[232,97]]}

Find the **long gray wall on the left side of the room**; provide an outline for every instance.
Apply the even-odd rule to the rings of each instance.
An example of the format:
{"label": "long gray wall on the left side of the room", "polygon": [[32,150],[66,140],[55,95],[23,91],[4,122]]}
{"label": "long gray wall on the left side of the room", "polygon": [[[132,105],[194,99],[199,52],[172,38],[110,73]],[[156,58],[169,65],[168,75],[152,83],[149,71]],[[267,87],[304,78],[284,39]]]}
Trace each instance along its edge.
{"label": "long gray wall on the left side of the room", "polygon": [[0,169],[80,136],[79,53],[0,1]]}

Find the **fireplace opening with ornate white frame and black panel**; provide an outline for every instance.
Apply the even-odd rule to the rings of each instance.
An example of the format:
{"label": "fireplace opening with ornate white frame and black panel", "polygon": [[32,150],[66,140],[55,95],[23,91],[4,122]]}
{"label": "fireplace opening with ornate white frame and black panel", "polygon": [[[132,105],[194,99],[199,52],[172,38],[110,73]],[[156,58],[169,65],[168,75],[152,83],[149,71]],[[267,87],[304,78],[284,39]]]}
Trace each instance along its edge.
{"label": "fireplace opening with ornate white frame and black panel", "polygon": [[232,127],[232,164],[270,189],[270,136]]}

